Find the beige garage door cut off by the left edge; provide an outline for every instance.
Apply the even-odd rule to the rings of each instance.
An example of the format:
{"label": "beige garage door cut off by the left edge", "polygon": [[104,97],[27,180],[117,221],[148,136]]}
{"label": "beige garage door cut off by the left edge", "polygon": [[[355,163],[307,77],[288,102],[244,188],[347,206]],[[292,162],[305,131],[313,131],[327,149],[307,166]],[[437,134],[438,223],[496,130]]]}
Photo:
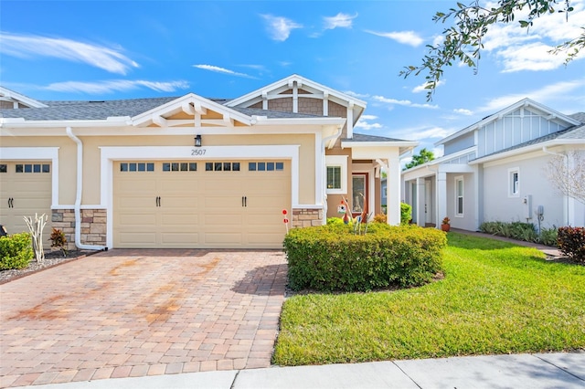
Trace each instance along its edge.
{"label": "beige garage door cut off by the left edge", "polygon": [[51,231],[51,164],[48,162],[0,163],[0,224],[9,234],[28,232],[24,216],[34,220],[46,214],[44,233]]}

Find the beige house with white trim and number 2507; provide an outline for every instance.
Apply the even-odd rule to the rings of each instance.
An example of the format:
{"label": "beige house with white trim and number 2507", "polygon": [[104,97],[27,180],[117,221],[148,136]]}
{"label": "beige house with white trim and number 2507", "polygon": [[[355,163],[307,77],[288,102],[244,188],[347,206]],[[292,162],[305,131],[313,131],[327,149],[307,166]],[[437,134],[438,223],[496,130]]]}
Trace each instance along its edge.
{"label": "beige house with white trim and number 2507", "polygon": [[[235,100],[36,101],[0,88],[0,223],[49,215],[77,247],[282,247],[346,197],[400,220],[416,142],[354,132],[366,102],[293,75]],[[283,215],[286,210],[287,215]]]}

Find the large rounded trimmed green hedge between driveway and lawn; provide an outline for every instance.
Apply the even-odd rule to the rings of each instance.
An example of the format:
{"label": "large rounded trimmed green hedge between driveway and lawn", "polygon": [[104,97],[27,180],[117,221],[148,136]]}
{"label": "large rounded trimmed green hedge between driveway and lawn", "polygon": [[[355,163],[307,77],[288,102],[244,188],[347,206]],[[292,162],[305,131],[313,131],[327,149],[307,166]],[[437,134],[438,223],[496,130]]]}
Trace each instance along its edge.
{"label": "large rounded trimmed green hedge between driveway and lawn", "polygon": [[419,226],[373,223],[367,235],[350,226],[291,230],[284,238],[293,290],[367,291],[429,282],[442,270],[446,235]]}

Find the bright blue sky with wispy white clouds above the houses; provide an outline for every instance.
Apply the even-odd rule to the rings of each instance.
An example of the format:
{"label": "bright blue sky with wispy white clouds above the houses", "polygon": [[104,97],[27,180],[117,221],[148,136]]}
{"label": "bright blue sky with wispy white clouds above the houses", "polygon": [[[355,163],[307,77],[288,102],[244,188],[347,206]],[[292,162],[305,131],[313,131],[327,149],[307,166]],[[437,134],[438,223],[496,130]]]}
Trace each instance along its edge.
{"label": "bright blue sky with wispy white clouds above the houses", "polygon": [[585,111],[585,53],[568,67],[547,54],[585,26],[585,0],[569,21],[496,26],[478,74],[453,64],[427,101],[424,77],[399,71],[420,64],[445,28],[432,16],[455,4],[2,0],[0,85],[37,100],[236,98],[296,73],[366,100],[356,132],[417,150],[526,97]]}

